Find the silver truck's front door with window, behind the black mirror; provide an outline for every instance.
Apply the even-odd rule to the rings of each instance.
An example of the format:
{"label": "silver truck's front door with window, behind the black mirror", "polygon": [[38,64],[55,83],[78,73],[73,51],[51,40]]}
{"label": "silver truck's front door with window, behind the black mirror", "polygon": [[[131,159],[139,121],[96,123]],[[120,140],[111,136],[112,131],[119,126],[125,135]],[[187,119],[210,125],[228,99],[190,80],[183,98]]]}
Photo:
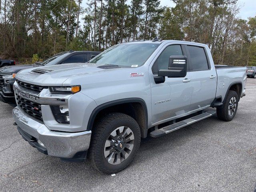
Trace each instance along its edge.
{"label": "silver truck's front door with window, behind the black mirror", "polygon": [[[184,45],[167,45],[162,49],[152,70],[157,75],[158,70],[168,69],[170,56],[186,55]],[[150,79],[152,97],[152,124],[160,124],[190,111],[192,94],[192,75],[187,72],[186,77],[168,78],[165,82],[156,84]]]}

